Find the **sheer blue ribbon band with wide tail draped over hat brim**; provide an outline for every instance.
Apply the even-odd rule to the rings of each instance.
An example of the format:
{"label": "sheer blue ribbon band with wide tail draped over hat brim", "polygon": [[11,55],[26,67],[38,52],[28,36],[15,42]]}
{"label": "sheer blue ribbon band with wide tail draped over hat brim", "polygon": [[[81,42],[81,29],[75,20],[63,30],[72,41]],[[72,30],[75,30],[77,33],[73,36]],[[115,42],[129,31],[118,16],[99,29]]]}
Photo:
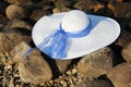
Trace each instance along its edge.
{"label": "sheer blue ribbon band with wide tail draped over hat brim", "polygon": [[53,59],[67,58],[70,49],[71,39],[80,38],[88,35],[91,32],[91,22],[86,28],[79,33],[67,33],[62,29],[61,24],[59,29],[46,37],[41,44],[37,46],[40,51]]}

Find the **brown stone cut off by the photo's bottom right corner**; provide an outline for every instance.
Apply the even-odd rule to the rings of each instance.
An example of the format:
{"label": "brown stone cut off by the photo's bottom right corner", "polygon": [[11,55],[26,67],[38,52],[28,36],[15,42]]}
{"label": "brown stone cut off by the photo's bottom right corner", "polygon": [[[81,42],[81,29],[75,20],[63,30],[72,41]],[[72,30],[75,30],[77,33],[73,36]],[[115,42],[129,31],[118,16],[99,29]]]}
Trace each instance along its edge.
{"label": "brown stone cut off by the photo's bottom right corner", "polygon": [[115,87],[131,87],[131,62],[115,66],[107,77]]}

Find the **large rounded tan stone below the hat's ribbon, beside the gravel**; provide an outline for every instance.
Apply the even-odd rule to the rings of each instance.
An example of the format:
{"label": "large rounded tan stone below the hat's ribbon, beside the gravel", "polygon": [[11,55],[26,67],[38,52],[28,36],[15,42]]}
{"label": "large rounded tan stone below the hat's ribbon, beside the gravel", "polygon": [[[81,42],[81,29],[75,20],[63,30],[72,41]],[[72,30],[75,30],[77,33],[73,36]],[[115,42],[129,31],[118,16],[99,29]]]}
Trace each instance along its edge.
{"label": "large rounded tan stone below the hat's ribbon, beside the gravel", "polygon": [[25,83],[44,84],[52,78],[52,72],[40,51],[35,49],[19,63],[20,77]]}

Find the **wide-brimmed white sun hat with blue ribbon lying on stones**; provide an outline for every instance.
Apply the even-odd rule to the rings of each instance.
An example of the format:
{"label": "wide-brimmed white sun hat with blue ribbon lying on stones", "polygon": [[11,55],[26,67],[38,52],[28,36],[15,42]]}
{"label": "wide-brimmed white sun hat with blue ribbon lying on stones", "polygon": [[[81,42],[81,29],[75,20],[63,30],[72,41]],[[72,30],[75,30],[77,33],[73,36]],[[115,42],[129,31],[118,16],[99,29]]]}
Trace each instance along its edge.
{"label": "wide-brimmed white sun hat with blue ribbon lying on stones", "polygon": [[104,48],[120,35],[119,24],[109,17],[80,10],[41,17],[33,27],[36,47],[51,59],[75,59]]}

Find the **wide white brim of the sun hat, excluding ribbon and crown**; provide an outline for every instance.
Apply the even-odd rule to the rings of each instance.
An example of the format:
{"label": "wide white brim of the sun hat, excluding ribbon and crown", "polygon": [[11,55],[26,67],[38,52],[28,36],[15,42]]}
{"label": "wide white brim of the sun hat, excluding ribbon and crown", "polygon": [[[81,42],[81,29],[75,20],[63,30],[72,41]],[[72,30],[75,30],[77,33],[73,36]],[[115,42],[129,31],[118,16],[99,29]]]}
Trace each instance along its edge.
{"label": "wide white brim of the sun hat, excluding ribbon and crown", "polygon": [[[66,13],[44,16],[35,24],[32,37],[36,47],[53,30],[59,28],[60,22]],[[67,58],[61,58],[61,60],[80,58],[110,45],[118,38],[120,26],[115,20],[90,14],[87,16],[91,20],[91,33],[81,38],[71,38],[72,42],[68,55]]]}

